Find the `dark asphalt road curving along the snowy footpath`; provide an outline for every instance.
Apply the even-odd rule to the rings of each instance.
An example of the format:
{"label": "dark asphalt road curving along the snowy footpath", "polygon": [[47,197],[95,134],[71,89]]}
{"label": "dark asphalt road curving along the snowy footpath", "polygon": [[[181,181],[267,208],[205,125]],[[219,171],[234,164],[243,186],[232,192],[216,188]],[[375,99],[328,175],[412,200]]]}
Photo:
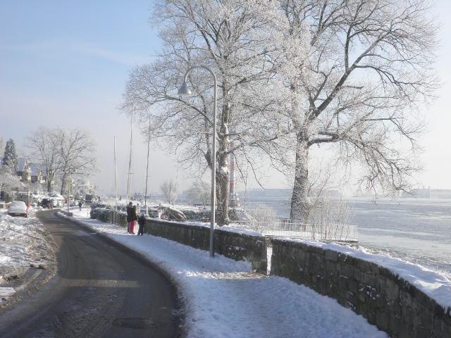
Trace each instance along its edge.
{"label": "dark asphalt road curving along the snowy footpath", "polygon": [[56,242],[58,272],[1,313],[0,337],[178,337],[175,289],[157,270],[52,211],[37,217]]}

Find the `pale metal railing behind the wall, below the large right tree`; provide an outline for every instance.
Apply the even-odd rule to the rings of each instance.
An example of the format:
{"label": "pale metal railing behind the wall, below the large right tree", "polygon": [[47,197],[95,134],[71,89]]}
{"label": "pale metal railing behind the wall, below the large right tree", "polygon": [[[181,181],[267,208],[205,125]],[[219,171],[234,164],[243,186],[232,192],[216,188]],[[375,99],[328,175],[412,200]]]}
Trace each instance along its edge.
{"label": "pale metal railing behind the wall, below the large right tree", "polygon": [[347,224],[303,224],[290,220],[234,221],[232,227],[261,232],[267,237],[290,237],[320,241],[357,242],[357,226]]}

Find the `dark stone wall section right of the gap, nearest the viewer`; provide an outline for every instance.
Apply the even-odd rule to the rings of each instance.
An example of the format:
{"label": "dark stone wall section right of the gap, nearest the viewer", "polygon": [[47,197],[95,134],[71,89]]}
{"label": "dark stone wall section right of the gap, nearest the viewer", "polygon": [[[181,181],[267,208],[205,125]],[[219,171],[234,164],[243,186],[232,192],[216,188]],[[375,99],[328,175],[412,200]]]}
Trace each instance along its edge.
{"label": "dark stone wall section right of the gap, nearest the viewer", "polygon": [[451,338],[444,309],[387,268],[318,246],[271,239],[271,275],[333,297],[393,338]]}

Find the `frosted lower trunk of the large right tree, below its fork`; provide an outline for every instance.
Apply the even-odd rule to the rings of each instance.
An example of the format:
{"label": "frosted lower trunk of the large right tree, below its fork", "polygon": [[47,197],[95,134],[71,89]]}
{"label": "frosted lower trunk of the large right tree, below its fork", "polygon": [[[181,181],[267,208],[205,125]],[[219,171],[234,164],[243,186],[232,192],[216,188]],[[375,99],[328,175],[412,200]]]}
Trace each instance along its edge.
{"label": "frosted lower trunk of the large right tree, below its fork", "polygon": [[290,219],[292,222],[307,223],[309,218],[309,147],[305,132],[297,134],[295,183],[291,198]]}

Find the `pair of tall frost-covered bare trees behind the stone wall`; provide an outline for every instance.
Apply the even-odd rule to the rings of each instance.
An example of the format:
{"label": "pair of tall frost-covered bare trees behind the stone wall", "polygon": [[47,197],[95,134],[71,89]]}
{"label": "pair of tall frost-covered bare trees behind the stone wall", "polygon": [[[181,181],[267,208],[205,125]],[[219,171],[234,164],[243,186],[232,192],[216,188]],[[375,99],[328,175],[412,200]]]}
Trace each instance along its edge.
{"label": "pair of tall frost-covered bare trees behind the stone wall", "polygon": [[[407,189],[419,169],[419,105],[438,86],[436,25],[426,0],[157,0],[163,47],[130,73],[123,108],[198,173],[212,168],[212,81],[218,77],[218,223],[228,223],[228,157],[269,161],[290,178],[292,220],[309,213],[311,147],[357,163],[368,189]],[[404,144],[402,142],[405,142]],[[407,146],[406,146],[407,144]]]}

